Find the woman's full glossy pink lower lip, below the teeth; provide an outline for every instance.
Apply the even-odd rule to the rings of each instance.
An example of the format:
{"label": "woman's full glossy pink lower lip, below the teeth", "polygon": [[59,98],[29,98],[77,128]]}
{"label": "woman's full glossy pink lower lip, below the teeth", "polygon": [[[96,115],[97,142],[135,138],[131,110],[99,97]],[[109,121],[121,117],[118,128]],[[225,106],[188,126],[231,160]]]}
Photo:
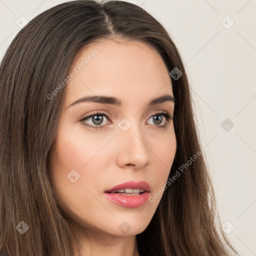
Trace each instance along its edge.
{"label": "woman's full glossy pink lower lip, below the teeth", "polygon": [[128,208],[136,208],[143,205],[149,198],[150,192],[143,192],[142,194],[137,195],[124,195],[118,193],[107,193],[104,192],[104,195],[110,201]]}

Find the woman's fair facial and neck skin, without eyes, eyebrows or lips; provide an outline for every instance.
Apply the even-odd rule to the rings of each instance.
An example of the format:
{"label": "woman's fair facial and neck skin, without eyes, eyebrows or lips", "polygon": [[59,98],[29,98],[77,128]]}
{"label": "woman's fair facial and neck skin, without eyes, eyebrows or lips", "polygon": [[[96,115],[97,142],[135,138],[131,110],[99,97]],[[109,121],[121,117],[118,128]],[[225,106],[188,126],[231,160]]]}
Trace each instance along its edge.
{"label": "woman's fair facial and neck skin, without eyes, eyebrows or lips", "polygon": [[[53,181],[59,206],[74,221],[72,230],[83,255],[137,256],[135,235],[149,224],[162,193],[153,202],[128,208],[108,200],[103,192],[125,181],[145,180],[153,195],[167,181],[176,138],[173,120],[168,122],[157,113],[166,111],[173,116],[174,103],[147,104],[163,94],[173,96],[171,80],[153,48],[120,39],[81,48],[70,72],[95,48],[99,51],[95,57],[65,85],[51,154]],[[122,105],[80,102],[68,107],[87,95],[114,96]],[[101,115],[101,124],[93,117],[83,123],[104,126],[102,129],[86,127],[79,121],[96,110],[103,110],[109,117]],[[160,124],[150,118],[153,114],[162,118]],[[123,118],[131,123],[125,132],[117,125]],[[165,123],[167,126],[162,128],[160,125]],[[67,178],[72,169],[80,175],[75,182]],[[125,234],[118,228],[123,221],[130,226]]]}

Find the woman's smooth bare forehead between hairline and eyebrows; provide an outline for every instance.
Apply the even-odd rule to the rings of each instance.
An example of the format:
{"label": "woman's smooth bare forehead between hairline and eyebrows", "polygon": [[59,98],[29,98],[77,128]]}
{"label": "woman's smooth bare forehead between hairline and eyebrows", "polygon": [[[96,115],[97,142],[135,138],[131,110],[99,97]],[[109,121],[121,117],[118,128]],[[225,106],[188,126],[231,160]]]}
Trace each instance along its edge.
{"label": "woman's smooth bare forehead between hairline and eyebrows", "polygon": [[81,48],[69,69],[66,105],[85,95],[143,100],[172,94],[168,69],[158,52],[140,41],[106,40]]}

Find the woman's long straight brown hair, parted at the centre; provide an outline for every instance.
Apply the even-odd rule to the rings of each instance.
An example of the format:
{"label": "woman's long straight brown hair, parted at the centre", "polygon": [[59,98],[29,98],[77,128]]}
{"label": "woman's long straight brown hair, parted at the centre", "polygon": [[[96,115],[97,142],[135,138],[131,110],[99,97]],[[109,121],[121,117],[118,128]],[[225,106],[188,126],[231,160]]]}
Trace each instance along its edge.
{"label": "woman's long straight brown hair, parted at the centre", "polygon": [[[177,141],[171,178],[146,229],[137,234],[141,256],[237,254],[220,228],[212,185],[198,140],[190,88],[179,52],[163,26],[141,7],[124,1],[77,0],[33,18],[15,36],[0,65],[0,249],[3,255],[73,255],[72,220],[61,211],[49,155],[65,87],[47,95],[68,74],[86,44],[102,39],[143,41],[159,52],[175,98]],[[199,152],[199,153],[198,153]],[[190,157],[196,160],[187,164]],[[184,168],[185,167],[185,168]],[[23,222],[21,222],[23,221]],[[21,234],[18,228],[26,232]]]}

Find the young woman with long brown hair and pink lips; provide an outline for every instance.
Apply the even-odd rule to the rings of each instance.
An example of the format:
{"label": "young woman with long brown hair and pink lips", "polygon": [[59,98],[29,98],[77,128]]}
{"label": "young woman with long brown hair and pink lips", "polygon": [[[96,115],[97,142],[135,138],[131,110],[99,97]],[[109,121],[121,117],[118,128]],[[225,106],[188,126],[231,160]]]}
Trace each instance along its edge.
{"label": "young woman with long brown hair and pink lips", "polygon": [[124,1],[32,19],[0,65],[2,255],[234,255],[181,57]]}

